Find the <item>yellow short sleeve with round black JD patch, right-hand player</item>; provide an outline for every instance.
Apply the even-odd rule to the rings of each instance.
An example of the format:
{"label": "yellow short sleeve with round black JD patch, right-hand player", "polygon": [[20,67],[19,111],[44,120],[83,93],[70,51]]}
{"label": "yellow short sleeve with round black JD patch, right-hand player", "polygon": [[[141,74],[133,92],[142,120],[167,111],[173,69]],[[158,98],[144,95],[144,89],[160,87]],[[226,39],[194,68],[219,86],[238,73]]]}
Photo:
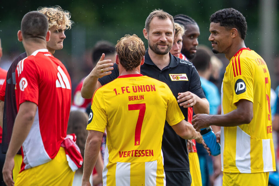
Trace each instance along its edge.
{"label": "yellow short sleeve with round black JD patch, right-hand player", "polygon": [[234,93],[233,104],[237,103],[240,99],[246,99],[253,103],[254,99],[254,78],[253,74],[255,69],[251,65],[250,61],[245,61],[243,58],[240,58],[241,64],[241,74],[233,77],[232,79],[232,92]]}

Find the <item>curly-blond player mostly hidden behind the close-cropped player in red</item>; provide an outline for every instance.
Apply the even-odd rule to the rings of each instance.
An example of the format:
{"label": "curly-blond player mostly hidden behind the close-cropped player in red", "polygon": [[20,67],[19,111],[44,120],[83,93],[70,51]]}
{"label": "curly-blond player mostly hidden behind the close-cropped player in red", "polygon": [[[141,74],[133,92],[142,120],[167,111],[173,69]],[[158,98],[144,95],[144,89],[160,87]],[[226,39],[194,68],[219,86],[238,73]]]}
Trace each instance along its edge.
{"label": "curly-blond player mostly hidden behind the close-cropped player in red", "polygon": [[[55,50],[63,48],[63,40],[66,38],[64,31],[71,28],[73,21],[70,20],[71,16],[68,11],[64,11],[60,6],[53,7],[40,7],[39,12],[43,13],[48,18],[48,28],[51,31],[50,41],[47,42],[47,49],[51,54],[54,54]],[[3,121],[3,141],[2,141],[2,153],[6,153],[9,142],[11,140],[11,133],[13,129],[14,120],[17,114],[16,100],[15,100],[15,71],[19,61],[26,58],[26,52],[19,55],[12,63],[7,74],[7,81],[4,82],[3,87],[0,89],[0,109],[1,114],[4,111],[4,117],[0,119],[0,124]],[[7,82],[7,84],[6,84]],[[6,97],[5,97],[6,94]],[[4,103],[5,101],[5,103]],[[4,110],[3,110],[4,107]],[[22,163],[21,153],[15,157],[15,167],[13,169],[13,179],[20,171]]]}

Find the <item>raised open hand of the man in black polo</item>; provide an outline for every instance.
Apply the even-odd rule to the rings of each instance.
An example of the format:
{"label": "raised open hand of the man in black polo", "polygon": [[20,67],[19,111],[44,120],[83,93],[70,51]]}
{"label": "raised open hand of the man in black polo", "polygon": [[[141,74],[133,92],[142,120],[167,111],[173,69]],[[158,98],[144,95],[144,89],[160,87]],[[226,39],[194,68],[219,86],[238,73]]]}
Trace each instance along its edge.
{"label": "raised open hand of the man in black polo", "polygon": [[113,63],[111,60],[104,60],[105,54],[102,54],[100,60],[97,62],[96,66],[90,72],[93,77],[101,78],[103,76],[111,74],[110,70],[113,70]]}

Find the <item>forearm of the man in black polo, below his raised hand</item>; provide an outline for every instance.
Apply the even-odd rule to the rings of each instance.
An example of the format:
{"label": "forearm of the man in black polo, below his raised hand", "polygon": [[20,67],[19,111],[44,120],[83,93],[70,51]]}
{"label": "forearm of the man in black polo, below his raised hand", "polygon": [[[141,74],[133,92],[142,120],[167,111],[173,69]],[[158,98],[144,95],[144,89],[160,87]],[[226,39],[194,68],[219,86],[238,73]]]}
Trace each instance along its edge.
{"label": "forearm of the man in black polo, below his raised hand", "polygon": [[97,89],[97,82],[98,78],[92,76],[91,73],[85,77],[81,88],[81,96],[85,99],[91,99]]}

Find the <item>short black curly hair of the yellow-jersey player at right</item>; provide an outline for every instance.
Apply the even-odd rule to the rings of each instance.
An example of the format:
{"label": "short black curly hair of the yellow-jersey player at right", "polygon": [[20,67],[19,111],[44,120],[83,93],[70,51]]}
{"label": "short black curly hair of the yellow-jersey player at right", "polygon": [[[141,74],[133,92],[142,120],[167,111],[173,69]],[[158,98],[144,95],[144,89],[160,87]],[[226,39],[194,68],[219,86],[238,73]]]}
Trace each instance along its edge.
{"label": "short black curly hair of the yellow-jersey player at right", "polygon": [[210,22],[220,23],[220,26],[224,26],[229,29],[236,28],[243,40],[246,37],[247,22],[245,17],[236,9],[229,8],[218,10],[210,16]]}

